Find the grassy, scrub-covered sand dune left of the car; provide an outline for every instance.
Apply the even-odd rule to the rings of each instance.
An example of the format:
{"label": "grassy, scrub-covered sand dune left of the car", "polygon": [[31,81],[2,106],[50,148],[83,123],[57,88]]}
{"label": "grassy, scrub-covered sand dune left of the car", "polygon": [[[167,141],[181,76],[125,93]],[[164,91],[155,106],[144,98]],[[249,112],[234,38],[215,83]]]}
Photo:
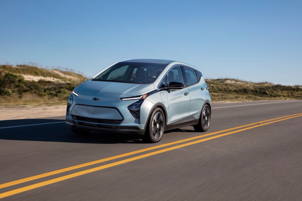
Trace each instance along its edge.
{"label": "grassy, scrub-covered sand dune left of the car", "polygon": [[[26,75],[38,76],[39,80],[25,79]],[[56,81],[47,78],[56,78]],[[86,79],[83,75],[57,69],[0,65],[0,103],[65,102],[72,89]]]}

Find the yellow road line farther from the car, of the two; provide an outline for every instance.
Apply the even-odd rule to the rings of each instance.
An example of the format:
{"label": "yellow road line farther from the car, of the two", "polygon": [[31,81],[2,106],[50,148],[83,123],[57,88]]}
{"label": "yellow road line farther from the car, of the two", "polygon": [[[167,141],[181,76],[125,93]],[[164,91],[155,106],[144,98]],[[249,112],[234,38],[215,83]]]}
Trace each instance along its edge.
{"label": "yellow road line farther from the car, of the two", "polygon": [[296,118],[296,117],[299,117],[299,116],[302,116],[302,115],[291,116],[291,117],[288,117],[288,118],[285,118],[285,119],[275,120],[275,121],[271,121],[271,122],[268,122],[268,123],[263,123],[263,124],[251,126],[251,127],[248,127],[248,128],[244,128],[244,129],[239,129],[239,130],[236,130],[236,131],[223,133],[223,134],[220,134],[220,135],[217,135],[217,136],[212,136],[212,137],[209,137],[209,138],[204,138],[204,139],[196,140],[196,141],[193,141],[193,142],[188,142],[188,143],[185,143],[185,144],[181,144],[181,145],[161,149],[161,150],[158,150],[158,151],[155,151],[155,152],[151,152],[151,153],[143,154],[143,155],[140,155],[140,156],[124,159],[124,160],[121,160],[121,161],[113,162],[113,163],[110,163],[110,164],[102,165],[102,166],[99,166],[99,167],[96,167],[96,168],[91,168],[91,169],[84,170],[84,171],[79,171],[79,172],[76,172],[76,173],[73,173],[73,174],[68,174],[68,175],[65,175],[65,176],[62,176],[62,177],[57,177],[55,179],[50,179],[50,180],[43,181],[43,182],[40,182],[40,183],[35,183],[35,184],[29,185],[29,186],[26,186],[26,187],[21,187],[21,188],[15,189],[15,190],[7,191],[5,193],[0,193],[0,198],[11,196],[11,195],[21,193],[21,192],[24,192],[24,191],[27,191],[27,190],[32,190],[32,189],[35,189],[35,188],[38,188],[38,187],[46,186],[46,185],[56,183],[56,182],[59,182],[59,181],[63,181],[63,180],[66,180],[66,179],[70,179],[70,178],[73,178],[73,177],[78,177],[78,176],[83,175],[83,174],[88,174],[88,173],[95,172],[95,171],[98,171],[98,170],[103,170],[105,168],[110,168],[110,167],[113,167],[113,166],[116,166],[116,165],[119,165],[119,164],[124,164],[124,163],[130,162],[130,161],[135,161],[135,160],[138,160],[138,159],[141,159],[141,158],[146,158],[148,156],[152,156],[152,155],[156,155],[156,154],[159,154],[159,153],[167,152],[167,151],[174,150],[174,149],[177,149],[177,148],[182,148],[182,147],[185,147],[185,146],[197,144],[197,143],[204,142],[204,141],[207,141],[207,140],[211,140],[211,139],[219,138],[219,137],[222,137],[222,136],[230,135],[230,134],[233,134],[233,133],[236,133],[236,132],[241,132],[241,131],[249,130],[249,129],[252,129],[252,128],[257,128],[259,126],[265,126],[265,125],[268,125],[268,124],[271,124],[271,123],[284,121],[284,120]]}

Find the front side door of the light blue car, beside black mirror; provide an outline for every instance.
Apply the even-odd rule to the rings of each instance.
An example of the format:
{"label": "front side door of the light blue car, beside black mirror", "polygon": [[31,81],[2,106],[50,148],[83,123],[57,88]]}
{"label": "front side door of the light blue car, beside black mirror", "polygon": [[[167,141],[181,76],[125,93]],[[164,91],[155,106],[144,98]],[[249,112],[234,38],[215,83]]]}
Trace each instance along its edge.
{"label": "front side door of the light blue car, beside black mirror", "polygon": [[[185,85],[182,68],[180,65],[174,66],[169,70],[168,85],[172,81],[180,82]],[[190,107],[190,93],[187,87],[182,89],[167,90],[168,97],[168,120],[167,125],[186,123]]]}

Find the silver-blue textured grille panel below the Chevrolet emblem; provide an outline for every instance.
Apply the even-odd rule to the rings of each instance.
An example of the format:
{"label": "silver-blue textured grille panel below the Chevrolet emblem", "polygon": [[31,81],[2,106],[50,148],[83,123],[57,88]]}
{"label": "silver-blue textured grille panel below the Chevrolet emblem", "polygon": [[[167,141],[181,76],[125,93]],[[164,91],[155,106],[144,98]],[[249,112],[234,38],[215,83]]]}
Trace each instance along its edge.
{"label": "silver-blue textured grille panel below the Chevrolet emblem", "polygon": [[88,119],[100,120],[123,120],[116,108],[98,107],[90,105],[77,104],[71,111],[74,116],[81,116]]}

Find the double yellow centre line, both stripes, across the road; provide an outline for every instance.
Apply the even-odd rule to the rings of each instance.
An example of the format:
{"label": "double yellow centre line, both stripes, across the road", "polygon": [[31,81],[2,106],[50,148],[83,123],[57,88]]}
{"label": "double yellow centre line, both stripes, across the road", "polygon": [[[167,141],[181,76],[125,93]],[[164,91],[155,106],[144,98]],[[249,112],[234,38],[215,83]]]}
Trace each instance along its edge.
{"label": "double yellow centre line, both stripes, across the road", "polygon": [[[68,168],[63,168],[63,169],[59,169],[59,170],[56,170],[56,171],[51,171],[51,172],[47,172],[47,173],[43,173],[43,174],[38,174],[38,175],[35,175],[35,176],[32,176],[32,177],[27,177],[27,178],[24,178],[24,179],[15,180],[15,181],[11,181],[11,182],[8,182],[8,183],[3,183],[3,184],[0,184],[0,189],[5,188],[5,187],[9,187],[9,186],[13,186],[13,185],[16,185],[16,184],[28,182],[28,181],[31,181],[31,180],[36,180],[36,179],[39,179],[39,178],[47,177],[47,176],[50,176],[50,175],[59,174],[59,173],[63,173],[63,172],[66,172],[66,171],[75,170],[75,169],[78,169],[78,168],[83,168],[83,167],[90,166],[90,165],[93,165],[93,164],[98,164],[98,163],[102,163],[102,162],[105,162],[105,161],[110,161],[110,160],[114,160],[114,159],[117,159],[117,158],[122,158],[122,157],[130,156],[130,155],[138,154],[138,153],[141,153],[141,152],[146,152],[146,151],[150,151],[150,150],[153,150],[153,149],[166,147],[166,146],[169,146],[169,145],[175,145],[175,144],[178,144],[178,143],[181,143],[181,142],[187,142],[187,141],[190,141],[190,140],[199,139],[199,138],[202,138],[202,137],[211,136],[211,135],[226,132],[226,133],[216,135],[216,136],[212,136],[212,137],[209,137],[209,138],[199,139],[199,140],[196,140],[196,141],[193,141],[193,142],[188,142],[188,143],[184,143],[184,144],[181,144],[181,145],[172,146],[172,147],[169,147],[169,148],[165,148],[165,149],[161,149],[161,150],[158,150],[158,151],[146,153],[146,154],[135,156],[135,157],[132,157],[132,158],[127,158],[127,159],[116,161],[116,162],[109,163],[109,164],[106,164],[106,165],[101,165],[101,166],[98,166],[96,168],[91,168],[91,169],[87,169],[87,170],[84,170],[84,171],[79,171],[79,172],[76,172],[76,173],[73,173],[73,174],[68,174],[68,175],[65,175],[65,176],[62,176],[62,177],[57,177],[55,179],[50,179],[50,180],[35,183],[35,184],[29,185],[29,186],[21,187],[21,188],[15,189],[15,190],[10,190],[10,191],[4,192],[4,193],[0,193],[0,198],[11,196],[11,195],[21,193],[21,192],[24,192],[24,191],[27,191],[27,190],[35,189],[35,188],[38,188],[38,187],[46,186],[46,185],[51,184],[51,183],[56,183],[56,182],[63,181],[63,180],[66,180],[66,179],[70,179],[70,178],[73,178],[73,177],[77,177],[77,176],[80,176],[80,175],[83,175],[83,174],[88,174],[88,173],[91,173],[91,172],[95,172],[95,171],[102,170],[102,169],[105,169],[105,168],[110,168],[110,167],[113,167],[113,166],[116,166],[116,165],[119,165],[119,164],[124,164],[124,163],[130,162],[130,161],[135,161],[137,159],[146,158],[148,156],[152,156],[152,155],[156,155],[156,154],[159,154],[159,153],[167,152],[167,151],[170,151],[170,150],[173,150],[173,149],[182,148],[182,147],[185,147],[185,146],[189,146],[189,145],[197,144],[197,143],[200,143],[200,142],[204,142],[204,141],[207,141],[207,140],[210,140],[210,139],[219,138],[219,137],[230,135],[230,134],[233,134],[233,133],[236,133],[236,132],[241,132],[241,131],[256,128],[256,127],[259,127],[259,126],[265,126],[267,124],[271,124],[271,123],[275,123],[275,122],[279,122],[279,121],[284,121],[284,120],[296,118],[296,117],[299,117],[299,116],[302,116],[302,113],[292,114],[292,115],[288,115],[288,116],[281,116],[281,117],[274,118],[274,119],[269,119],[269,120],[255,122],[255,123],[250,123],[250,124],[246,124],[246,125],[243,125],[243,126],[238,126],[238,127],[225,129],[225,130],[221,130],[221,131],[217,131],[217,132],[211,132],[211,133],[208,133],[208,134],[205,134],[205,135],[195,136],[195,137],[191,137],[191,138],[187,138],[187,139],[183,139],[183,140],[178,140],[178,141],[175,141],[175,142],[170,142],[170,143],[166,143],[166,144],[162,144],[162,145],[157,145],[157,146],[153,146],[153,147],[149,147],[149,148],[144,148],[144,149],[140,149],[140,150],[137,150],[137,151],[128,152],[128,153],[125,153],[125,154],[112,156],[112,157],[109,157],[109,158],[103,158],[103,159],[100,159],[100,160],[91,161],[91,162],[88,162],[88,163],[83,163],[83,164],[79,164],[79,165],[75,165],[75,166],[71,166],[71,167],[68,167]],[[250,126],[250,127],[247,127],[247,126]],[[244,128],[244,127],[247,127],[247,128]],[[243,128],[243,129],[240,129],[240,128]],[[236,129],[238,129],[238,130],[236,130]],[[232,131],[232,130],[235,130],[235,131]],[[231,131],[231,132],[228,132],[228,131]]]}

